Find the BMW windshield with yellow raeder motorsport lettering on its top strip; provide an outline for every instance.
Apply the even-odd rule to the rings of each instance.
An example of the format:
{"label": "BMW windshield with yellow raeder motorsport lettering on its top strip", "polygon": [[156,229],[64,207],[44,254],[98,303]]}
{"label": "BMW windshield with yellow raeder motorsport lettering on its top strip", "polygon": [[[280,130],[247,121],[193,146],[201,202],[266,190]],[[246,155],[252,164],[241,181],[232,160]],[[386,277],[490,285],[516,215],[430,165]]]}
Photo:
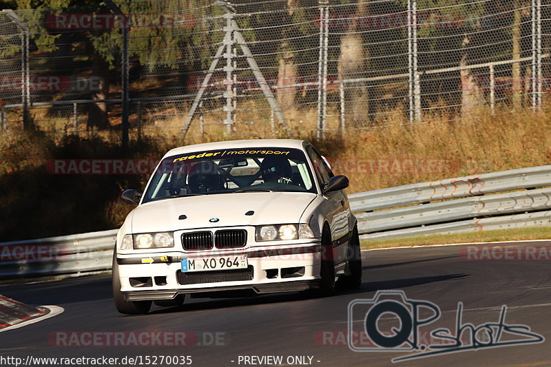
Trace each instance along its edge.
{"label": "BMW windshield with yellow raeder motorsport lettering on its top strip", "polygon": [[143,202],[213,193],[289,191],[315,193],[300,149],[248,148],[197,151],[165,158]]}

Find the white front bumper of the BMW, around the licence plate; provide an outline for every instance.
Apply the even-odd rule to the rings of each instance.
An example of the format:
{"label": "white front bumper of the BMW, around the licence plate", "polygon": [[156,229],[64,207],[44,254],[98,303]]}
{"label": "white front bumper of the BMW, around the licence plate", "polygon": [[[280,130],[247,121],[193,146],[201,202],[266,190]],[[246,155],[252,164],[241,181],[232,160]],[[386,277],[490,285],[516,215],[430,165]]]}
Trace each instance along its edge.
{"label": "white front bumper of the BMW, around the licence plate", "polygon": [[[210,278],[203,277],[204,272],[193,272],[185,273],[193,275],[193,280],[183,284],[181,258],[243,254],[247,254],[249,264],[249,269],[242,269],[249,271],[247,280],[233,280],[224,271],[205,272],[210,273]],[[321,258],[320,242],[310,242],[232,251],[118,254],[117,266],[125,300],[169,300],[185,293],[206,297],[212,293],[264,294],[315,289],[320,280]]]}

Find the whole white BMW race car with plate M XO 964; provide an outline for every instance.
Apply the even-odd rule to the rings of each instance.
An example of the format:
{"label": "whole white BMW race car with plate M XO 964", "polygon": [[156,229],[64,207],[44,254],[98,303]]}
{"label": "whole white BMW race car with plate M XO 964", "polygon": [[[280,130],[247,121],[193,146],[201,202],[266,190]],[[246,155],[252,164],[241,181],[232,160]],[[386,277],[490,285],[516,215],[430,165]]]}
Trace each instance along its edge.
{"label": "whole white BMW race car with plate M XO 964", "polygon": [[[285,291],[330,295],[362,283],[357,222],[304,140],[236,140],[169,151],[118,231],[113,293],[121,313],[191,297]],[[338,282],[338,283],[337,283]]]}

